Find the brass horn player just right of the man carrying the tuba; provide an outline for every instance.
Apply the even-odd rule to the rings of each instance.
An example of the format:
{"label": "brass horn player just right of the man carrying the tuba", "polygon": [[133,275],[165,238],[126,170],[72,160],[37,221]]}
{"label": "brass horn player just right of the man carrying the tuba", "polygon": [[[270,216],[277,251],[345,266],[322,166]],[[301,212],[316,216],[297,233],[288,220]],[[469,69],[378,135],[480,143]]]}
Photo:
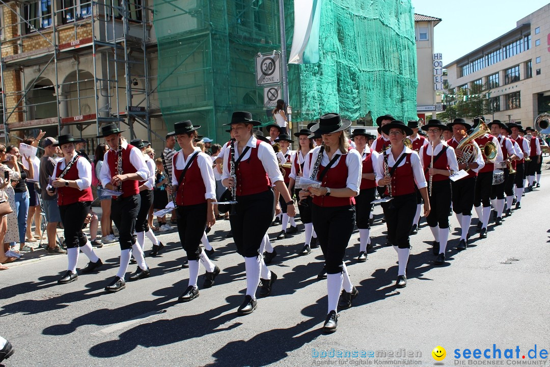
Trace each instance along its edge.
{"label": "brass horn player just right of the man carrying the tuba", "polygon": [[[481,123],[485,123],[485,118],[482,116],[475,118],[474,128]],[[481,148],[485,166],[483,166],[477,174],[476,192],[474,196],[474,207],[479,219],[477,230],[480,232],[480,238],[487,238],[487,224],[489,224],[489,217],[491,216],[491,190],[493,186],[494,165],[496,163],[502,163],[502,150],[498,144],[498,139],[491,134],[486,133],[475,140],[480,147],[485,147],[489,142],[492,142],[497,147],[497,156],[492,160],[487,159],[485,150]],[[481,206],[482,204],[483,207]]]}

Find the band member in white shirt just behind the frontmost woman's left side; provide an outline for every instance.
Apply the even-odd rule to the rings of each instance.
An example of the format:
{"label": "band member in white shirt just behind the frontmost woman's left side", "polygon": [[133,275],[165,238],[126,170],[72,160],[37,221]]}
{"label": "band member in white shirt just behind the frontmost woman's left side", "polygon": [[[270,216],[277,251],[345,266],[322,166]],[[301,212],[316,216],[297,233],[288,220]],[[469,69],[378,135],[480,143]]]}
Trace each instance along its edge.
{"label": "band member in white shirt just behind the frontmost woman's left side", "polygon": [[[304,163],[307,155],[310,154],[313,149],[313,139],[309,138],[311,131],[309,129],[301,129],[298,133],[294,133],[294,136],[298,138],[300,149],[294,152],[294,155],[290,159],[292,167],[290,167],[289,185],[288,189],[295,190],[296,197],[300,197],[299,188],[295,188],[296,178],[301,177],[304,172]],[[304,205],[305,204],[305,205]],[[312,248],[318,247],[317,235],[313,235],[313,223],[311,222],[311,198],[306,198],[305,202],[298,201],[298,210],[300,211],[300,220],[304,223],[305,227],[305,240],[304,248],[300,251],[300,255],[308,255],[311,253]],[[313,237],[313,245],[311,245],[311,239]]]}

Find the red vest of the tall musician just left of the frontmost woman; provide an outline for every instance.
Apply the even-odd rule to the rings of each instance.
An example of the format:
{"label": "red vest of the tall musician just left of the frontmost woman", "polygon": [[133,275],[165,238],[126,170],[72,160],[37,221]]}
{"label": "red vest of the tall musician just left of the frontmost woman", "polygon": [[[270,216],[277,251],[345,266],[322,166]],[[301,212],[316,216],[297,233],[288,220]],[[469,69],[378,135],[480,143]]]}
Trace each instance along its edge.
{"label": "red vest of the tall musician just left of the frontmost woman", "polygon": [[240,161],[237,166],[237,196],[259,194],[271,188],[270,179],[258,158],[260,143],[261,140],[256,140],[256,147],[250,149],[248,160]]}

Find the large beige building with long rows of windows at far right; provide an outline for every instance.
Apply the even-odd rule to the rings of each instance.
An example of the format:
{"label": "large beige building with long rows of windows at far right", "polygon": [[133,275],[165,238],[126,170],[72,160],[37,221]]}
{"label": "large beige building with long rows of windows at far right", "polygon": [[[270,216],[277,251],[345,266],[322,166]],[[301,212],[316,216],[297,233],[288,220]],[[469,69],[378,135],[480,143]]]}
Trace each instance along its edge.
{"label": "large beige building with long rows of windows at far right", "polygon": [[550,4],[518,20],[516,28],[445,65],[449,94],[487,85],[486,117],[532,126],[550,112]]}

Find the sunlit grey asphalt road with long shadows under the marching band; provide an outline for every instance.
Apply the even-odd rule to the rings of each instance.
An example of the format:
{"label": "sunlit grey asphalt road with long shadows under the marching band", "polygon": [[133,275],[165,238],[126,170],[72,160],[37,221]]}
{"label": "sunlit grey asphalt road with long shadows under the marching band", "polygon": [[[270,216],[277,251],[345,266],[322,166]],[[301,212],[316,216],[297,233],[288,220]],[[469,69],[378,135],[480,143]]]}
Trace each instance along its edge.
{"label": "sunlit grey asphalt road with long shadows under the marching band", "polygon": [[[0,272],[0,335],[16,350],[4,364],[303,366],[409,361],[433,365],[431,351],[442,346],[447,349],[442,363],[455,365],[454,349],[483,350],[493,344],[502,353],[519,346],[516,360],[530,361],[521,355],[535,344],[537,353],[550,347],[546,205],[550,177],[544,173],[542,187],[526,194],[522,209],[505,218],[502,226],[489,224],[487,239],[477,239],[474,219],[471,246],[461,253],[455,250],[459,236],[453,216],[446,266],[433,265],[432,236],[422,221],[419,234],[411,237],[404,289],[394,287],[397,254],[383,245],[385,225],[377,207],[375,247],[368,261],[355,261],[357,234],[348,247],[346,264],[360,293],[351,309],[340,312],[338,331],[332,335],[321,332],[327,313],[326,281],[316,280],[321,250],[297,255],[303,231],[274,242],[279,255],[270,269],[279,279],[272,295],[259,299],[257,310],[242,317],[236,311],[246,288],[244,261],[232,240],[225,238],[228,221],[218,222],[209,235],[216,249],[213,259],[222,273],[215,286],[201,289],[200,297],[190,303],[177,303],[189,273],[180,269],[185,254],[174,231],[160,235],[166,250],[147,258],[151,277],[128,282],[126,289],[114,294],[103,288],[116,274],[118,244],[97,250],[106,263],[100,272],[81,275],[64,286],[56,283],[66,270],[63,255],[10,264],[9,270]],[[301,223],[299,228],[303,229]],[[278,230],[270,228],[272,237]],[[146,248],[150,247],[147,241]],[[86,262],[81,254],[79,267]],[[134,270],[131,265],[129,271]],[[201,267],[199,285],[202,273]],[[372,350],[375,358],[313,357],[333,349]],[[398,357],[392,358],[391,351]],[[403,353],[413,353],[414,358],[403,361],[399,358]]]}

